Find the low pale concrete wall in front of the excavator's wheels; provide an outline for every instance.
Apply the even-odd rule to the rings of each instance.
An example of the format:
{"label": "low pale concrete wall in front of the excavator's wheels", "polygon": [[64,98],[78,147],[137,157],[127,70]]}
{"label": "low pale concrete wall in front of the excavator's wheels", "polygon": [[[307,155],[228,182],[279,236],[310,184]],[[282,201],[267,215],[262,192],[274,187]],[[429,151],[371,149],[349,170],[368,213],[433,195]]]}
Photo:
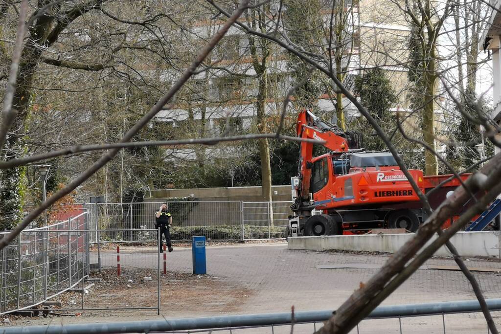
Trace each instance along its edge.
{"label": "low pale concrete wall in front of the excavator's wheels", "polygon": [[[289,249],[307,250],[363,250],[394,253],[414,234],[367,234],[367,235],[331,235],[331,236],[301,236],[289,238]],[[436,235],[428,243],[431,243]],[[458,232],[452,239],[452,244],[462,256],[496,256],[501,257],[501,231]],[[450,252],[441,247],[436,256],[451,256]]]}

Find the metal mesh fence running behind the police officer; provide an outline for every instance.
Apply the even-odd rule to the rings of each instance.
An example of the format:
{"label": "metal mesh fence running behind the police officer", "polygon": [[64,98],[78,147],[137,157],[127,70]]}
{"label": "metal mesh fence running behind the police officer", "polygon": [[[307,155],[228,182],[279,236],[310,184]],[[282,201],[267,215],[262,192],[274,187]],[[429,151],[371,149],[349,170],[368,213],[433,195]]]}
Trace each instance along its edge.
{"label": "metal mesh fence running behind the police officer", "polygon": [[[100,241],[153,241],[155,212],[162,202],[86,204],[91,228]],[[205,235],[208,240],[285,238],[292,202],[169,201],[172,240]],[[110,231],[112,230],[112,231]],[[92,242],[97,233],[90,232]]]}

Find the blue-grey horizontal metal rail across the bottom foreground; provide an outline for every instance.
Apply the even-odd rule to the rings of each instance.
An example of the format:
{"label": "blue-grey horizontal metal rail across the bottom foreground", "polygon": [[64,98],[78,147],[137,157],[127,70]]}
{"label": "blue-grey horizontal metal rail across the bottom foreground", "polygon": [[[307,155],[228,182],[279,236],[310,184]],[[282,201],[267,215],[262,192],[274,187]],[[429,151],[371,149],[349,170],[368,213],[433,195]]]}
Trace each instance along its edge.
{"label": "blue-grey horizontal metal rail across the bottom foreground", "polygon": [[[501,310],[501,299],[486,299],[489,310]],[[477,300],[434,302],[425,304],[405,304],[378,306],[367,319],[400,318],[447,313],[480,312]],[[236,327],[259,327],[294,323],[315,323],[327,320],[332,310],[210,316],[199,318],[161,319],[147,321],[125,321],[107,323],[53,324],[30,327],[4,327],[4,334],[86,334],[86,333],[148,333],[189,331],[196,329],[217,329]]]}

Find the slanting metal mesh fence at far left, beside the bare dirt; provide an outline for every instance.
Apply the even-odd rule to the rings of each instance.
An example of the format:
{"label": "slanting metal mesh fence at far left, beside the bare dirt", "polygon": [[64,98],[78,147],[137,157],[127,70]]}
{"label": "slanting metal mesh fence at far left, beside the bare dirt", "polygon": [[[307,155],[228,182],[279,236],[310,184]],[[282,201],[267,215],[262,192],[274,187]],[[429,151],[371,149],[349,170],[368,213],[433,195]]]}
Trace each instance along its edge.
{"label": "slanting metal mesh fence at far left, beside the bare dirt", "polygon": [[87,218],[84,212],[65,222],[25,229],[0,250],[0,313],[40,304],[88,276]]}

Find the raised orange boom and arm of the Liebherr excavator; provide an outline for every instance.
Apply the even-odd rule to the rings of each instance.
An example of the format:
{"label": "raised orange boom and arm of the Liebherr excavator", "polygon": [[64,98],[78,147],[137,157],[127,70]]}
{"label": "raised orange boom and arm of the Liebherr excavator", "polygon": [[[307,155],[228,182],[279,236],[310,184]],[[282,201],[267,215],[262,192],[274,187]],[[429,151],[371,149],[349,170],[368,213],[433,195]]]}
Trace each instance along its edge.
{"label": "raised orange boom and arm of the Liebherr excavator", "polygon": [[[342,153],[348,152],[350,148],[358,148],[358,135],[342,131],[336,126],[322,121],[308,110],[299,113],[296,129],[298,137],[318,140],[319,144],[333,152]],[[292,207],[295,211],[308,205],[313,146],[312,142],[301,142],[298,166],[299,185],[296,188],[298,196]]]}

